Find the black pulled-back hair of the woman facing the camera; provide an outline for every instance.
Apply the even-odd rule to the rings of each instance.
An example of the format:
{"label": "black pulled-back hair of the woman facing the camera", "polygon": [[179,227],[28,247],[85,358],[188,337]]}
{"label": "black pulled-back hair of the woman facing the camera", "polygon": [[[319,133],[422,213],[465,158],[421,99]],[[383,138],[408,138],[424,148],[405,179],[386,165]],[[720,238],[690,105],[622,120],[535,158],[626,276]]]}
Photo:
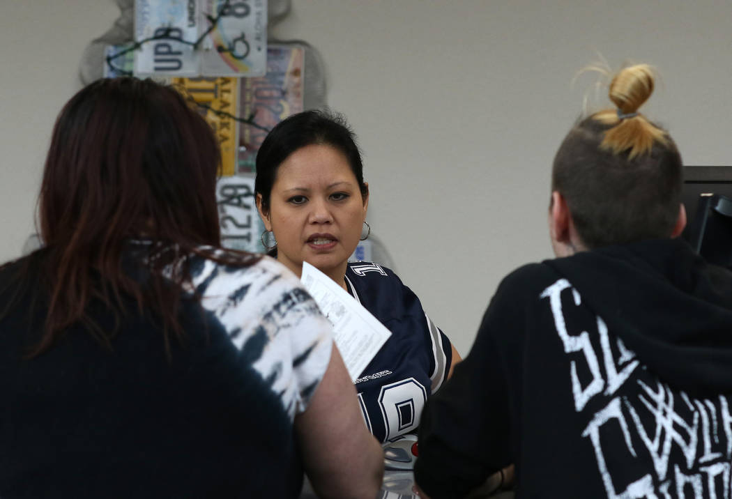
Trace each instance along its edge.
{"label": "black pulled-back hair of the woman facing the camera", "polygon": [[265,212],[269,210],[269,198],[280,165],[298,149],[313,145],[330,146],[343,154],[356,176],[361,195],[368,194],[361,152],[356,144],[356,135],[346,119],[343,115],[327,110],[307,110],[280,121],[257,151],[254,191],[262,196],[262,209]]}

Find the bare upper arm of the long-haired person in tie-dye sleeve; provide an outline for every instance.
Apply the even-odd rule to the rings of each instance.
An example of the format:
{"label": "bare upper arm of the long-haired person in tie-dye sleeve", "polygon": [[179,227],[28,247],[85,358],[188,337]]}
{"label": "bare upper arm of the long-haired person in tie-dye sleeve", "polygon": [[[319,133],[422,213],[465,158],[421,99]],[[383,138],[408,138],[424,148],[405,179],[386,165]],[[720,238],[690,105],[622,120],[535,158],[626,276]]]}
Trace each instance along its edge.
{"label": "bare upper arm of the long-haired person in tie-dye sleeve", "polygon": [[364,424],[356,389],[335,345],[310,405],[295,417],[295,431],[318,497],[376,497],[384,452]]}

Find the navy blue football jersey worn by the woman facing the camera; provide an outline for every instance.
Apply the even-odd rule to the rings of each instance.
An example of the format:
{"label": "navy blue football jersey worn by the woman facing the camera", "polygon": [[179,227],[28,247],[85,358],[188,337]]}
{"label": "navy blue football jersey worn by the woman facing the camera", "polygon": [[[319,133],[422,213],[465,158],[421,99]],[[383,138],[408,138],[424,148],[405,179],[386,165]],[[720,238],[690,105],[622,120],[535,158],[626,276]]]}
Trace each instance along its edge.
{"label": "navy blue football jersey worn by the woman facing the camera", "polygon": [[417,429],[425,400],[447,378],[452,347],[417,295],[386,267],[349,262],[346,284],[348,292],[392,331],[356,380],[366,425],[385,442]]}

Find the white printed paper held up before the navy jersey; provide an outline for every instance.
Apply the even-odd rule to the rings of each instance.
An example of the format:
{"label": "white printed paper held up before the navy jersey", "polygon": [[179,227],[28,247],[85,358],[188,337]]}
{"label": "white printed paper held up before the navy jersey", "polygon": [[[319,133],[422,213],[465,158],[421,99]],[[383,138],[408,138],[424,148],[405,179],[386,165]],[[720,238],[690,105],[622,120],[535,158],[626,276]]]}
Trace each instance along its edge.
{"label": "white printed paper held up before the navy jersey", "polygon": [[356,381],[392,332],[346,290],[310,263],[302,263],[300,280],[332,323],[335,344],[351,380]]}

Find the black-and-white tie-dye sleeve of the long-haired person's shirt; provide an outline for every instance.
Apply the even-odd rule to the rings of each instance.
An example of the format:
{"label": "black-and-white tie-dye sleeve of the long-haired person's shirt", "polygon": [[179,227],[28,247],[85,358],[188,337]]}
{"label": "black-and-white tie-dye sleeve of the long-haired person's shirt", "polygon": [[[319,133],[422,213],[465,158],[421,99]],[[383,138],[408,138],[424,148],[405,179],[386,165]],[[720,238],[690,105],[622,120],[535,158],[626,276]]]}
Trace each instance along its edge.
{"label": "black-and-white tie-dye sleeve of the long-haired person's shirt", "polygon": [[192,280],[203,308],[223,326],[294,419],[307,408],[332,348],[330,323],[299,279],[265,256],[244,268],[198,258]]}

